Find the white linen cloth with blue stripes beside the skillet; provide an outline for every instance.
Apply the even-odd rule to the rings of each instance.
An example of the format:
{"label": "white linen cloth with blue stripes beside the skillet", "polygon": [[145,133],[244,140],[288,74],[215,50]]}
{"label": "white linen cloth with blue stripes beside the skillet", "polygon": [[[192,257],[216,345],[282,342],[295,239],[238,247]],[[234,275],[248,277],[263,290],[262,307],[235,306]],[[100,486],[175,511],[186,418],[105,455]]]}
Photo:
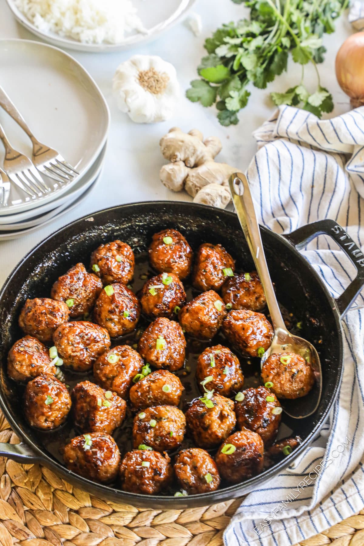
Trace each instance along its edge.
{"label": "white linen cloth with blue stripes beside the skillet", "polygon": [[[320,121],[280,106],[254,136],[258,152],[247,175],[259,222],[288,233],[334,218],[363,249],[364,107]],[[303,254],[333,296],[355,276],[326,236]],[[295,544],[364,507],[363,306],[360,294],[343,321],[343,382],[328,422],[293,465],[244,498],[225,530],[226,546]],[[325,458],[326,465],[318,467]]]}

